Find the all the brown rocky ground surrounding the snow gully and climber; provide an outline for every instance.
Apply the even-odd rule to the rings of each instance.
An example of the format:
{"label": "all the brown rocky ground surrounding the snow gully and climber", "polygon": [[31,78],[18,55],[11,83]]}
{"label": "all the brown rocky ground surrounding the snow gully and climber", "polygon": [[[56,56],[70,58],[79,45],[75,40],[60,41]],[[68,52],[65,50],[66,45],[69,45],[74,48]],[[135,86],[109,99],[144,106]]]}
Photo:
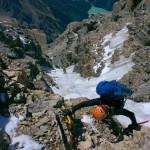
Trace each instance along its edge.
{"label": "all the brown rocky ground surrounding the snow gully and climber", "polygon": [[[116,143],[122,127],[116,120],[108,118],[105,122],[95,121],[98,132],[89,124],[81,122],[82,115],[91,115],[93,107],[83,108],[75,114],[73,125],[68,125],[60,115],[60,109],[54,108],[63,98],[51,90],[57,86],[47,72],[53,65],[66,68],[75,65],[76,72],[83,77],[99,76],[104,65],[97,72],[92,70],[94,63],[102,63],[102,39],[105,35],[118,31],[126,26],[128,40],[123,47],[116,49],[111,62],[119,55],[132,57],[135,63],[133,70],[121,81],[130,85],[135,91],[132,98],[137,102],[150,101],[150,2],[124,1],[115,4],[112,14],[97,14],[92,19],[72,22],[59,38],[41,49],[45,38],[38,43],[37,35],[45,37],[38,29],[26,30],[14,21],[0,24],[0,116],[9,119],[11,115],[18,118],[16,137],[22,134],[30,136],[41,144],[43,150],[66,149],[114,149],[114,150],[147,150],[149,149],[150,129],[142,127],[134,131],[133,136],[122,137]],[[141,17],[142,16],[142,17]],[[10,19],[8,17],[8,19]],[[110,44],[109,42],[105,44]],[[93,52],[97,51],[97,55]],[[118,53],[118,51],[120,53]],[[66,100],[66,107],[75,105],[87,98]],[[7,123],[4,124],[4,127]],[[118,128],[116,128],[116,126]],[[24,144],[12,140],[0,129],[0,150],[9,146],[22,149]]]}

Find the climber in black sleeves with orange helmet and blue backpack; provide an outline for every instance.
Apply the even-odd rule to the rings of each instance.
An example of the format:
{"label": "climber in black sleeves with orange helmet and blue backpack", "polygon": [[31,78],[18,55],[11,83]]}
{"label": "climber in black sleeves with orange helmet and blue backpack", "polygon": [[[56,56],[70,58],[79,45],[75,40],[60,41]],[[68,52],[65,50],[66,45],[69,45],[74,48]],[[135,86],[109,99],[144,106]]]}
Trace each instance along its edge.
{"label": "climber in black sleeves with orange helmet and blue backpack", "polygon": [[132,123],[128,126],[129,129],[139,130],[140,126],[136,121],[133,112],[123,108],[125,98],[132,95],[132,90],[127,88],[124,84],[113,81],[102,81],[96,87],[96,92],[100,98],[91,99],[81,102],[71,108],[64,110],[64,116],[74,114],[75,111],[88,106],[97,105],[92,111],[95,119],[103,120],[108,114],[110,115],[124,115],[129,117]]}

